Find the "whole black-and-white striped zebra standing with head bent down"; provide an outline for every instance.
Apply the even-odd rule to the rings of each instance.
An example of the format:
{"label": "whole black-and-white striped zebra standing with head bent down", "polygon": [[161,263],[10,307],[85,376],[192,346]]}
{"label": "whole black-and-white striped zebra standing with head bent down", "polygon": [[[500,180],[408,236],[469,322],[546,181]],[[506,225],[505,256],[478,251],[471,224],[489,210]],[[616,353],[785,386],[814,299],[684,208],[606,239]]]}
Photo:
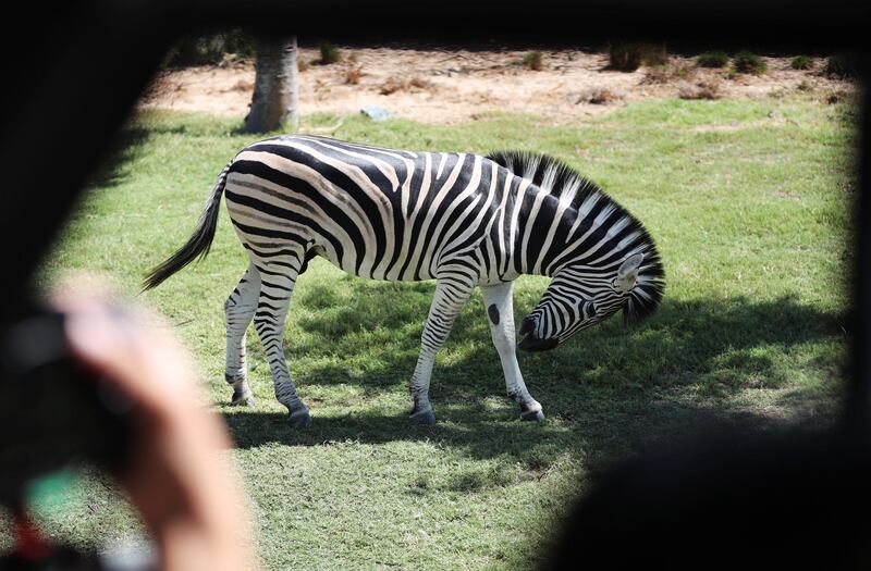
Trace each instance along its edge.
{"label": "whole black-and-white striped zebra standing with head bent down", "polygon": [[[482,294],[508,397],[541,421],[516,349],[543,351],[623,310],[627,324],[660,305],[664,271],[641,223],[559,159],[529,151],[413,152],[334,138],[284,135],[243,148],[218,176],[196,229],[147,275],[150,289],[214,237],[221,195],[249,263],[224,303],[233,405],[254,405],[245,335],[252,321],[292,426],[311,415],[287,369],[284,324],[296,281],[315,257],[382,281],[436,280],[409,388],[409,420],[436,422],[429,398],[436,355],[476,287]],[[520,323],[513,284],[551,276]]]}

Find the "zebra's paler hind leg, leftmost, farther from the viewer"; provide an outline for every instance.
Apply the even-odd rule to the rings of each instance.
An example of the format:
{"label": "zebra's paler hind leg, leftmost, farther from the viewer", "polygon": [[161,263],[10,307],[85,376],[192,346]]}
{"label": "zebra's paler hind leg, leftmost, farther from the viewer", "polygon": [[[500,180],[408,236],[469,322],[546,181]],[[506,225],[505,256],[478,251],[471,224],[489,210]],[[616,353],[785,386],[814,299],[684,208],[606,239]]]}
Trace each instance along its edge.
{"label": "zebra's paler hind leg, leftmost, farther from the viewer", "polygon": [[224,381],[233,386],[231,405],[255,405],[254,394],[248,387],[248,369],[245,359],[245,332],[257,310],[260,295],[260,273],[249,264],[245,275],[224,303],[226,318],[226,369]]}

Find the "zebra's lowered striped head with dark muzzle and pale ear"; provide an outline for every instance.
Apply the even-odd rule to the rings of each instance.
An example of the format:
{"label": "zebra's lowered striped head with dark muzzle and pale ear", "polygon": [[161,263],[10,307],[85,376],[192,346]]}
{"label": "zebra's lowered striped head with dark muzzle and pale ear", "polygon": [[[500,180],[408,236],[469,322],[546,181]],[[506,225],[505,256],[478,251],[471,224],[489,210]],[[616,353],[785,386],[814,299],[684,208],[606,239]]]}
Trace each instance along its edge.
{"label": "zebra's lowered striped head with dark muzzle and pale ear", "polygon": [[652,313],[662,299],[662,265],[655,250],[635,252],[598,268],[560,270],[520,324],[519,349],[547,351],[623,309],[626,323]]}

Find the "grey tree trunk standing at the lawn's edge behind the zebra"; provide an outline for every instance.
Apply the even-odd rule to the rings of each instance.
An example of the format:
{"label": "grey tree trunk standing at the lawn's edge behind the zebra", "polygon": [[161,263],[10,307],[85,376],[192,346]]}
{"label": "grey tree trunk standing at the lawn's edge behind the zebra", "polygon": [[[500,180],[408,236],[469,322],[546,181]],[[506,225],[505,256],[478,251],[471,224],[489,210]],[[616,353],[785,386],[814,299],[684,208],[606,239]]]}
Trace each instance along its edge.
{"label": "grey tree trunk standing at the lawn's edge behind the zebra", "polygon": [[246,133],[275,131],[284,125],[291,131],[299,126],[299,72],[296,36],[257,40],[254,95]]}

